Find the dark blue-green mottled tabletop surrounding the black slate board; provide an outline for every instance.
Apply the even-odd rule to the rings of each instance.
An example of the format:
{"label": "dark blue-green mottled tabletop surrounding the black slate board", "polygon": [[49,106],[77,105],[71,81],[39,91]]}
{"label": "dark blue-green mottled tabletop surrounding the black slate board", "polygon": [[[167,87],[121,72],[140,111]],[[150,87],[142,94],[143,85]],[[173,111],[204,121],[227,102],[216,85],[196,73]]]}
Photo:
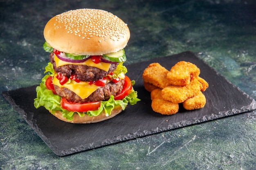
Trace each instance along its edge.
{"label": "dark blue-green mottled tabletop surrounding the black slate board", "polygon": [[[126,64],[193,51],[256,98],[256,2],[0,1],[0,91],[39,84],[46,22],[70,9],[114,13],[131,32]],[[221,86],[221,84],[220,84]],[[0,169],[256,169],[255,111],[65,157],[56,156],[0,95]]]}

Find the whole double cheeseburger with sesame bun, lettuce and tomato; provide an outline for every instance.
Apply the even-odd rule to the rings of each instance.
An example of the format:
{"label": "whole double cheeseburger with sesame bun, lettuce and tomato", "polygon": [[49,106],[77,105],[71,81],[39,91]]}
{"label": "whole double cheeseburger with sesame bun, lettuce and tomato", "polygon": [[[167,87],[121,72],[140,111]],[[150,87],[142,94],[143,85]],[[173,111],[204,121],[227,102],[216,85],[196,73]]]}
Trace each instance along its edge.
{"label": "whole double cheeseburger with sesame bun, lettuce and tomato", "polygon": [[49,20],[44,29],[50,62],[34,99],[58,119],[92,123],[114,117],[139,99],[123,63],[127,24],[107,11],[76,9]]}

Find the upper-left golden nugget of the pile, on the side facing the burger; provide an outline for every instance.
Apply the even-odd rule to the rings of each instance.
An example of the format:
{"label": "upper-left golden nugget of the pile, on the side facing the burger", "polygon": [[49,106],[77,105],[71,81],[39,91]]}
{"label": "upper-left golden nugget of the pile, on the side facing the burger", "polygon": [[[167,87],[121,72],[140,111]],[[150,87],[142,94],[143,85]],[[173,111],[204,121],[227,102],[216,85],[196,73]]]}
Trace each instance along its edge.
{"label": "upper-left golden nugget of the pile, on the side facing the burger", "polygon": [[150,83],[159,88],[164,88],[169,85],[169,82],[166,78],[168,72],[169,71],[159,63],[152,63],[149,64],[147,68],[145,68],[142,74],[142,78],[145,83]]}

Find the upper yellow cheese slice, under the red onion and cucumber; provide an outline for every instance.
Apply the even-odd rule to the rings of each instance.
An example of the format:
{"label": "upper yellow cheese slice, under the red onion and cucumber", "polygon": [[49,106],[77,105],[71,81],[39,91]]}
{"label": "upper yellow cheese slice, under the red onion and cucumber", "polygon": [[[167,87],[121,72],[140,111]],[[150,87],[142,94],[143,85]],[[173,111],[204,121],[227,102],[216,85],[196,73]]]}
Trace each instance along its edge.
{"label": "upper yellow cheese slice, under the red onion and cucumber", "polygon": [[87,66],[97,67],[104,71],[108,71],[110,68],[110,65],[111,65],[110,63],[106,63],[106,62],[99,62],[98,64],[96,64],[92,61],[92,59],[88,59],[85,62],[79,62],[79,63],[65,62],[65,61],[60,60],[55,54],[54,54],[54,61],[56,62],[56,67],[65,66],[68,64],[87,65]]}

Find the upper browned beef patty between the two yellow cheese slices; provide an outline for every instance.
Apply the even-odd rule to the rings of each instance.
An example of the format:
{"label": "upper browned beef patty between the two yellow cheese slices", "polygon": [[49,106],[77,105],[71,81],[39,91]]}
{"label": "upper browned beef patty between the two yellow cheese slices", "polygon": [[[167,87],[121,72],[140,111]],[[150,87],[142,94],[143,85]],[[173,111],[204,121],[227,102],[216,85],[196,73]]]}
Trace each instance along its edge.
{"label": "upper browned beef patty between the two yellow cheese slices", "polygon": [[104,71],[99,68],[86,65],[68,64],[65,66],[56,67],[56,62],[54,61],[54,53],[50,54],[50,62],[52,63],[53,68],[57,73],[61,72],[63,75],[67,77],[70,77],[70,75],[75,74],[77,78],[85,82],[102,79],[110,72],[114,71],[118,65],[118,63],[111,64],[108,71]]}

